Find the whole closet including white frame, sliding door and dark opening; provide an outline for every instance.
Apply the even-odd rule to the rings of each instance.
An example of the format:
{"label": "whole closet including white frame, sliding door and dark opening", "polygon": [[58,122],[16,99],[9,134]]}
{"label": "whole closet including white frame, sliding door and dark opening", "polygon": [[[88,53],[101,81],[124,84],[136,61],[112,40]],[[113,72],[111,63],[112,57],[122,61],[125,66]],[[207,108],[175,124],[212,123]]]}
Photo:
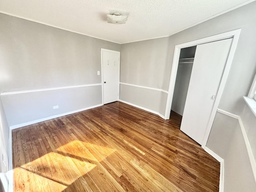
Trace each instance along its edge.
{"label": "whole closet including white frame, sliding door and dark opening", "polygon": [[165,119],[182,115],[180,130],[204,148],[240,34],[239,30],[178,44],[170,75]]}

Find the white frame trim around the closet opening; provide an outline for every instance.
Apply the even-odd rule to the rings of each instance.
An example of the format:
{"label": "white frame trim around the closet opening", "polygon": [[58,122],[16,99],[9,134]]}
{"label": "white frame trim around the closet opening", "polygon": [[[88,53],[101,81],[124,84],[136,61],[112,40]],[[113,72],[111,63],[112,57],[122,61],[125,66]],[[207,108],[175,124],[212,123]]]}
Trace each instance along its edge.
{"label": "white frame trim around the closet opening", "polygon": [[222,79],[220,82],[220,86],[219,86],[219,90],[214,102],[214,106],[212,109],[212,113],[210,115],[210,120],[208,123],[208,126],[206,128],[206,132],[204,135],[204,139],[202,142],[202,148],[205,148],[206,146],[206,142],[208,140],[211,128],[212,128],[212,124],[214,121],[214,117],[220,102],[220,98],[222,95],[222,92],[224,90],[224,86],[226,84],[226,80],[228,78],[228,73],[230,70],[230,66],[234,57],[234,53],[236,50],[236,46],[238,43],[238,38],[240,35],[240,31],[241,29],[237,29],[237,30],[233,30],[230,32],[225,32],[222,34],[218,34],[218,35],[214,35],[214,36],[210,36],[210,37],[206,37],[206,38],[202,38],[199,40],[194,40],[191,42],[187,42],[187,43],[183,43],[183,44],[179,44],[175,46],[174,49],[174,57],[173,57],[173,62],[172,62],[172,71],[171,71],[171,76],[170,76],[170,83],[169,83],[169,90],[168,90],[168,96],[167,96],[167,102],[166,102],[166,110],[165,110],[165,119],[169,119],[170,118],[170,112],[171,112],[171,107],[172,107],[172,98],[173,98],[173,93],[174,93],[174,86],[175,86],[175,81],[176,81],[176,75],[177,75],[177,70],[178,70],[178,64],[179,64],[179,58],[180,58],[180,50],[182,48],[186,48],[186,47],[191,47],[191,46],[196,46],[199,44],[204,44],[204,43],[209,43],[209,42],[213,42],[213,41],[217,41],[217,40],[222,40],[222,39],[226,39],[226,38],[233,38],[231,47],[230,47],[230,52],[228,55],[228,59],[226,62],[226,66],[222,75]]}

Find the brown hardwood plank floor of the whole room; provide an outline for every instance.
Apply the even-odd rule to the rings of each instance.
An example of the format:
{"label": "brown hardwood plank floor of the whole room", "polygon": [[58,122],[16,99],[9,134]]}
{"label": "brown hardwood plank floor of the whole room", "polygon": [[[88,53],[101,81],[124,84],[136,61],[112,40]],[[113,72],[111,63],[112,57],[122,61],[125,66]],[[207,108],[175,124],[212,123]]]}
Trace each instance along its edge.
{"label": "brown hardwood plank floor of the whole room", "polygon": [[218,192],[220,164],[180,122],[114,102],[12,130],[14,191]]}

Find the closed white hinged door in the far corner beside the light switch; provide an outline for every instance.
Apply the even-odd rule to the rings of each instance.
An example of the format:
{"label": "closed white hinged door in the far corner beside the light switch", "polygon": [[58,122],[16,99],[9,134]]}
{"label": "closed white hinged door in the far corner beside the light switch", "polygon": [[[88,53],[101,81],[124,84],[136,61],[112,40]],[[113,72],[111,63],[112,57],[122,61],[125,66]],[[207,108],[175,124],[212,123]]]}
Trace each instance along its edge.
{"label": "closed white hinged door in the far corner beside the light switch", "polygon": [[120,52],[107,49],[101,49],[101,52],[103,104],[107,104],[118,100]]}

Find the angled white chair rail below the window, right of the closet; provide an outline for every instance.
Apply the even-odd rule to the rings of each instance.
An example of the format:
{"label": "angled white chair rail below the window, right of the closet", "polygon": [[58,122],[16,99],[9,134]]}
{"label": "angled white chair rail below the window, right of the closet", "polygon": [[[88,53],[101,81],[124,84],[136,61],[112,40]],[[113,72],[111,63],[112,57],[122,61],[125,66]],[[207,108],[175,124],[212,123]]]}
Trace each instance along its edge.
{"label": "angled white chair rail below the window, right of the closet", "polygon": [[251,147],[249,138],[247,136],[246,130],[244,128],[244,124],[242,122],[241,117],[238,116],[238,115],[232,114],[230,112],[221,110],[221,109],[218,109],[217,112],[220,112],[220,113],[222,113],[222,114],[224,114],[226,116],[229,116],[229,117],[232,117],[232,118],[235,118],[235,119],[238,120],[240,128],[241,128],[241,131],[242,131],[242,134],[243,134],[243,137],[244,137],[244,142],[245,142],[245,145],[246,145],[246,149],[247,149],[247,153],[248,153],[248,156],[249,156],[250,164],[252,166],[252,172],[253,172],[253,175],[254,175],[254,180],[256,182],[256,160],[254,158],[254,154],[252,152],[252,147]]}

